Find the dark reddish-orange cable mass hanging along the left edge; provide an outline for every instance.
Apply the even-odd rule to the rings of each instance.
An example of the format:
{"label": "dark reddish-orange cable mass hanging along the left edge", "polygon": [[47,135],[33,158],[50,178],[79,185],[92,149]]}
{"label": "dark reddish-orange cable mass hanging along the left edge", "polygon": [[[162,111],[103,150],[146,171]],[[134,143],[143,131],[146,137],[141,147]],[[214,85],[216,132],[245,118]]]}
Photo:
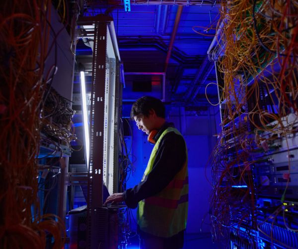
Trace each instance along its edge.
{"label": "dark reddish-orange cable mass hanging along the left edge", "polygon": [[[46,90],[51,1],[10,0],[0,13],[0,248],[41,249],[46,237],[64,244],[63,222],[40,215],[40,110]],[[64,237],[64,236],[63,236]]]}

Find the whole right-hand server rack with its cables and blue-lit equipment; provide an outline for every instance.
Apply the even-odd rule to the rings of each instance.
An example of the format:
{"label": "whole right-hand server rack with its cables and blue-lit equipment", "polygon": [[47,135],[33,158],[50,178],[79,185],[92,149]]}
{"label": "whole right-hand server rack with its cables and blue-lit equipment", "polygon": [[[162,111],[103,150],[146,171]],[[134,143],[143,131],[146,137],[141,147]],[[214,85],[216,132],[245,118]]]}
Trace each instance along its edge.
{"label": "whole right-hand server rack with its cables and blue-lit equipment", "polygon": [[[288,28],[269,31],[268,22],[286,9]],[[230,248],[297,248],[294,12],[293,1],[222,3],[222,22],[208,51],[217,70],[222,122],[212,165],[211,220],[214,238],[225,238]]]}

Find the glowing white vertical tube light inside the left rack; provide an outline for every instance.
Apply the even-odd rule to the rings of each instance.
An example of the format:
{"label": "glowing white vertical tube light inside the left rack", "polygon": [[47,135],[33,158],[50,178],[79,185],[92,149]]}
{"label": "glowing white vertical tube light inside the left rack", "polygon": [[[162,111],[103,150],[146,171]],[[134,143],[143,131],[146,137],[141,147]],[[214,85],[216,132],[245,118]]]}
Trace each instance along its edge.
{"label": "glowing white vertical tube light inside the left rack", "polygon": [[85,73],[83,71],[80,72],[80,85],[81,85],[81,102],[82,102],[82,111],[83,111],[84,138],[85,138],[85,155],[86,155],[87,169],[89,169],[90,141],[89,141],[89,126],[88,126],[88,114],[87,114]]}

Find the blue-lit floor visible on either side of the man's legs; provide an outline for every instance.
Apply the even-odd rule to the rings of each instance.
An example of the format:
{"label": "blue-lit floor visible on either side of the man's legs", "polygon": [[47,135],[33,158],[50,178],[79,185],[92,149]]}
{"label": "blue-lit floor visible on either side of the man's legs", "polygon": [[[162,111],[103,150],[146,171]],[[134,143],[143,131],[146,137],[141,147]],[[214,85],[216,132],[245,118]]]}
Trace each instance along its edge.
{"label": "blue-lit floor visible on either side of the man's legs", "polygon": [[[222,249],[221,244],[212,243],[210,233],[186,234],[183,249]],[[131,239],[131,245],[127,249],[139,249],[137,237]]]}

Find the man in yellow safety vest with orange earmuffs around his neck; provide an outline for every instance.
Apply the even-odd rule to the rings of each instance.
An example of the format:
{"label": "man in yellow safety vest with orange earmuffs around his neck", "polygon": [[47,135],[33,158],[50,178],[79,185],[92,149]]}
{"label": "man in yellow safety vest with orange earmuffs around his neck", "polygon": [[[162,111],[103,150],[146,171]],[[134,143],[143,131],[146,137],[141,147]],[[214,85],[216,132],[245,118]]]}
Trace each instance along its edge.
{"label": "man in yellow safety vest with orange earmuffs around his neck", "polygon": [[[138,234],[143,249],[183,247],[188,209],[187,149],[183,136],[165,120],[162,102],[144,96],[132,107],[131,118],[155,143],[142,181],[109,196],[105,202],[138,206]],[[139,205],[138,205],[139,204]]]}

